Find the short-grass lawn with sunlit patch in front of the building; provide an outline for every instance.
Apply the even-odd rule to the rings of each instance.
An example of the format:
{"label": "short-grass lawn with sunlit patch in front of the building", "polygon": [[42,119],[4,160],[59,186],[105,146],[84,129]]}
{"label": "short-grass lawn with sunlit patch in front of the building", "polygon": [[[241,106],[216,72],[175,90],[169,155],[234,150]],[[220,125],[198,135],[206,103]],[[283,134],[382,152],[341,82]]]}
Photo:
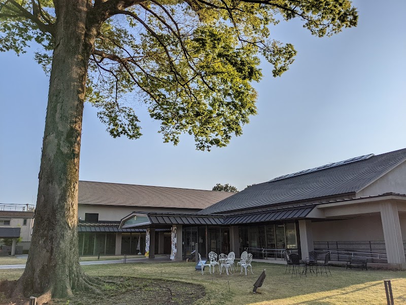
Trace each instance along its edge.
{"label": "short-grass lawn with sunlit patch in front of the building", "polygon": [[[385,304],[383,280],[392,280],[395,303],[406,303],[406,272],[331,267],[332,276],[299,277],[285,274],[284,265],[253,263],[254,275],[210,275],[194,270],[194,263],[127,263],[83,266],[93,276],[132,276],[173,279],[204,285],[206,296],[196,305],[215,304]],[[253,294],[253,283],[266,269],[263,287]],[[22,269],[1,270],[0,279],[17,279]]]}

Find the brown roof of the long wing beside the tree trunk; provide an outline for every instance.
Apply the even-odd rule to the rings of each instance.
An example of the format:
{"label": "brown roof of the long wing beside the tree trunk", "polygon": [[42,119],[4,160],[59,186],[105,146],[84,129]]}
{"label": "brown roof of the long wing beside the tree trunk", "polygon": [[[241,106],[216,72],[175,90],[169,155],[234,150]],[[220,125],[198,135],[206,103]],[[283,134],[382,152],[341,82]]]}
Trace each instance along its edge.
{"label": "brown roof of the long wing beside the tree trunk", "polygon": [[79,181],[79,204],[206,208],[234,193]]}

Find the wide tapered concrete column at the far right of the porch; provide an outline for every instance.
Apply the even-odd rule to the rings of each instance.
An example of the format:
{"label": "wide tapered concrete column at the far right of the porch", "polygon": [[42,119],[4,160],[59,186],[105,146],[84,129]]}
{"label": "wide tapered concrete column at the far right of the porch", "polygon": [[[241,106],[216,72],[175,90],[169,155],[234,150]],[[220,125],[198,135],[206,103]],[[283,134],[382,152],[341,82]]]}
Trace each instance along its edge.
{"label": "wide tapered concrete column at the far right of the porch", "polygon": [[380,210],[388,264],[391,268],[404,270],[406,262],[396,202],[383,202]]}

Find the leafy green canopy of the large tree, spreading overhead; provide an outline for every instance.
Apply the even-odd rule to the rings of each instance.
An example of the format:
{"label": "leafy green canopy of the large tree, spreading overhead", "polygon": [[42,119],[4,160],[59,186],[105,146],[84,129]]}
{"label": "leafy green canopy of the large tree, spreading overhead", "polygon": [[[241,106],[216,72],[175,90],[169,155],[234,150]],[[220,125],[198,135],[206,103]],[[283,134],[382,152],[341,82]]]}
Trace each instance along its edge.
{"label": "leafy green canopy of the large tree, spreading overhead", "polygon": [[[0,50],[43,48],[35,59],[50,71],[61,1],[0,2]],[[280,76],[296,50],[270,38],[269,25],[299,17],[318,37],[357,24],[348,0],[96,0],[87,23],[95,26],[85,99],[113,137],[141,136],[134,105],[143,102],[161,121],[165,142],[193,135],[198,149],[225,146],[256,114],[262,55]],[[124,97],[132,93],[132,99]]]}

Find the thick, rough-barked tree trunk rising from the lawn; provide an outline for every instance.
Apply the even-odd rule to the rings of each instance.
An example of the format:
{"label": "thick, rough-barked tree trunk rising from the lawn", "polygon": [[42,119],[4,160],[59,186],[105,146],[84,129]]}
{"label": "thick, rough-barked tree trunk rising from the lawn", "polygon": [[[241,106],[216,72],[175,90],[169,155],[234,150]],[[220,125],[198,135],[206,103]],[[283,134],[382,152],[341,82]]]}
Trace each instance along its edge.
{"label": "thick, rough-barked tree trunk rising from the lawn", "polygon": [[62,1],[55,10],[35,225],[17,291],[64,297],[91,282],[79,265],[77,222],[83,103],[93,40],[86,25],[87,1]]}

